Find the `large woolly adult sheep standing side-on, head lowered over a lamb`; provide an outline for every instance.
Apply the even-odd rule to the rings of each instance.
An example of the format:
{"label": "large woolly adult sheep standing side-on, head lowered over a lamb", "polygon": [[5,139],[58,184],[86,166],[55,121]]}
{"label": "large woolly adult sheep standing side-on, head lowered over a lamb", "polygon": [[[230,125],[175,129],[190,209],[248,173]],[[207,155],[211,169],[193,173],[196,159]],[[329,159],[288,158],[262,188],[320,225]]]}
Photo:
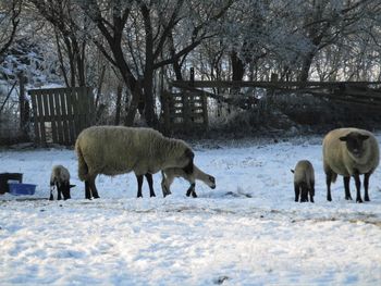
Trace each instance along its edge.
{"label": "large woolly adult sheep standing side-on, head lowered over a lamb", "polygon": [[86,198],[99,198],[95,179],[98,174],[114,176],[134,172],[137,197],[142,197],[146,175],[150,196],[155,196],[151,174],[168,167],[193,172],[194,152],[183,140],[164,137],[150,128],[93,126],[76,139],[78,176],[85,181]]}

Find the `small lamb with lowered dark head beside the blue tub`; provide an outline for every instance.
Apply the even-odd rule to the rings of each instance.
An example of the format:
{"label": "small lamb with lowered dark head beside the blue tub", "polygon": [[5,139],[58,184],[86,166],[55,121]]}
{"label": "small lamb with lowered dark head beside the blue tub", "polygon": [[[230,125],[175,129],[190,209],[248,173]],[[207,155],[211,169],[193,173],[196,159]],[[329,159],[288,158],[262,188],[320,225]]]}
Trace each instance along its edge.
{"label": "small lamb with lowered dark head beside the blue tub", "polygon": [[70,184],[70,173],[69,170],[63,165],[54,165],[51,170],[50,175],[50,197],[49,200],[53,200],[53,190],[57,189],[57,199],[61,200],[61,194],[63,199],[70,199],[70,189],[75,187],[75,185]]}

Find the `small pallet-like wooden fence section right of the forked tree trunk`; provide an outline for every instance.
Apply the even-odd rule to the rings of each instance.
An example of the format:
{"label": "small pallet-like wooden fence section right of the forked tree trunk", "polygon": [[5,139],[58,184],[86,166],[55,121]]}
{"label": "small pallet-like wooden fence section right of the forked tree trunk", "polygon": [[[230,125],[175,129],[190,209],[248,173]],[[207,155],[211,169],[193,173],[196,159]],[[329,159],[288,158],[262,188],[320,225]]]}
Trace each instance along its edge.
{"label": "small pallet-like wooden fence section right of the forked tree trunk", "polygon": [[208,127],[207,97],[202,92],[164,92],[162,115],[167,130],[200,130]]}

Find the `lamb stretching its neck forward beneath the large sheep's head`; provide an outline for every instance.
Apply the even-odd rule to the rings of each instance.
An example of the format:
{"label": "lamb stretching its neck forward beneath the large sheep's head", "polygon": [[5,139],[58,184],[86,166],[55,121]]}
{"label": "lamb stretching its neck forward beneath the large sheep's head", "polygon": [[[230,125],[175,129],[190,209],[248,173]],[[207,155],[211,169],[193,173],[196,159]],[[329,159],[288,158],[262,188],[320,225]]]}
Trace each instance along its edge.
{"label": "lamb stretching its neck forward beneath the large sheep's head", "polygon": [[171,194],[171,185],[175,177],[183,177],[187,182],[189,182],[190,187],[186,191],[186,196],[197,198],[197,194],[195,190],[196,179],[204,182],[210,188],[216,188],[216,178],[209,174],[204,173],[196,165],[193,165],[193,172],[190,174],[186,173],[181,167],[169,167],[161,171],[162,181],[161,181],[161,190],[163,197]]}

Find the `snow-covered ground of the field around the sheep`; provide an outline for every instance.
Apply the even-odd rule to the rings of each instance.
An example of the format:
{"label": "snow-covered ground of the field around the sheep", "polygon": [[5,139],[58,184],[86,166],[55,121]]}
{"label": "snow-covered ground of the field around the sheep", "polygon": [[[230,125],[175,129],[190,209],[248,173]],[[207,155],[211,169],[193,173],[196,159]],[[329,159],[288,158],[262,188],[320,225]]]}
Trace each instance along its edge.
{"label": "snow-covered ground of the field around the sheep", "polygon": [[[381,139],[379,137],[379,139]],[[238,146],[238,147],[237,147]],[[370,202],[344,200],[340,178],[325,201],[321,138],[194,146],[217,188],[176,179],[162,198],[136,199],[133,174],[99,176],[85,200],[73,150],[1,151],[0,173],[24,173],[32,198],[0,196],[0,285],[379,285],[381,169]],[[290,169],[316,170],[316,203],[294,202]],[[48,201],[53,164],[72,174],[72,200]],[[355,198],[354,183],[352,195]]]}

